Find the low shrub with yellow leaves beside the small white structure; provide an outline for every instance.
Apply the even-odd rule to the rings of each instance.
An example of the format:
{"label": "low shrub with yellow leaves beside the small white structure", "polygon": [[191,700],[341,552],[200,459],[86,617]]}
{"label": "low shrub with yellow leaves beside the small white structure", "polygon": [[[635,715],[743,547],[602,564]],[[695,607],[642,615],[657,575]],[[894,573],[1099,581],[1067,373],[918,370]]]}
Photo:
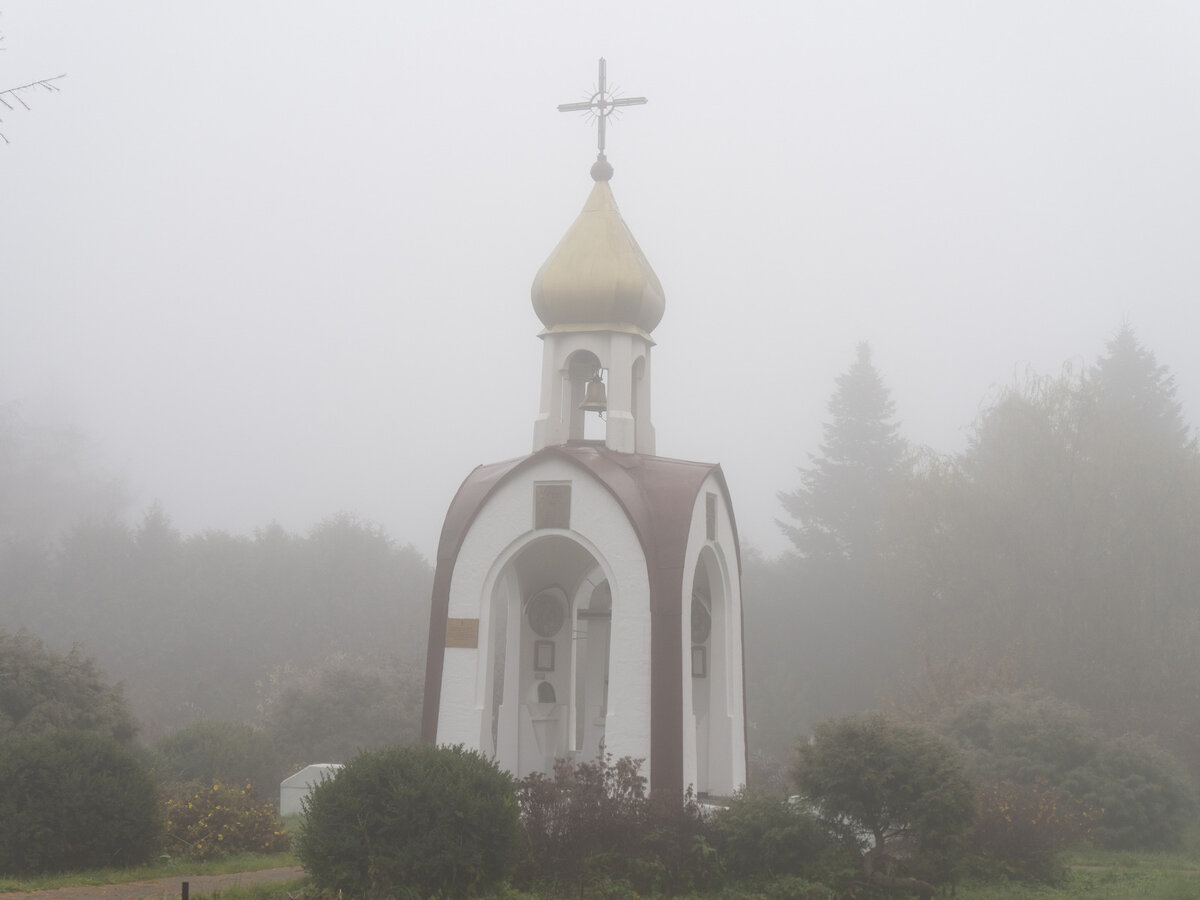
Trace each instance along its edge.
{"label": "low shrub with yellow leaves beside the small white structure", "polygon": [[230,853],[278,853],[290,839],[275,805],[260,802],[251,785],[176,785],[167,798],[168,848],[190,859]]}

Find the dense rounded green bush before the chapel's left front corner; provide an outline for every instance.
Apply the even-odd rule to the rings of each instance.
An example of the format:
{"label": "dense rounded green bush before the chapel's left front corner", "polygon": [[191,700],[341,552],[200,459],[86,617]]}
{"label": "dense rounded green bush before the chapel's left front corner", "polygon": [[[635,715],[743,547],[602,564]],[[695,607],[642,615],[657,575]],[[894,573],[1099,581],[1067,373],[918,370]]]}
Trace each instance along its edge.
{"label": "dense rounded green bush before the chapel's left front corner", "polygon": [[296,854],[318,890],[349,898],[474,896],[512,871],[511,776],[458,746],[360,754],[304,804]]}

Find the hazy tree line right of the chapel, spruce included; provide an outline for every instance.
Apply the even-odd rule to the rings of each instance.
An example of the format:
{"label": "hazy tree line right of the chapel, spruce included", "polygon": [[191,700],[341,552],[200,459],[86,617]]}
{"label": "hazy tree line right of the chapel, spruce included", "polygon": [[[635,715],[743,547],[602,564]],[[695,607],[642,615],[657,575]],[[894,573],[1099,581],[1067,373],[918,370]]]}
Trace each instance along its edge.
{"label": "hazy tree line right of the chapel, spruce included", "polygon": [[749,554],[743,588],[760,778],[830,715],[1028,689],[1200,774],[1200,454],[1130,326],[950,455],[902,439],[864,344],[780,502],[794,548]]}

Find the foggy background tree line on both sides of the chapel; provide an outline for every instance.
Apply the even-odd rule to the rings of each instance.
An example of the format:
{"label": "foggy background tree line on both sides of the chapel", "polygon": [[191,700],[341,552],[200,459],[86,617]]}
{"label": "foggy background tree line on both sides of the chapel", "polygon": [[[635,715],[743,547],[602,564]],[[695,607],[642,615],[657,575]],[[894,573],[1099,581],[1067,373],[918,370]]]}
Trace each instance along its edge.
{"label": "foggy background tree line on both sides of the chapel", "polygon": [[[1001,391],[950,455],[904,440],[860,347],[780,494],[793,550],[744,559],[754,778],[781,786],[830,716],[932,720],[1024,689],[1200,773],[1198,461],[1128,326],[1091,365]],[[185,536],[158,508],[127,524],[86,442],[13,407],[0,490],[0,628],[82,643],[143,740],[247,722],[308,762],[415,738],[432,572],[414,548],[349,516],[250,536]]]}

